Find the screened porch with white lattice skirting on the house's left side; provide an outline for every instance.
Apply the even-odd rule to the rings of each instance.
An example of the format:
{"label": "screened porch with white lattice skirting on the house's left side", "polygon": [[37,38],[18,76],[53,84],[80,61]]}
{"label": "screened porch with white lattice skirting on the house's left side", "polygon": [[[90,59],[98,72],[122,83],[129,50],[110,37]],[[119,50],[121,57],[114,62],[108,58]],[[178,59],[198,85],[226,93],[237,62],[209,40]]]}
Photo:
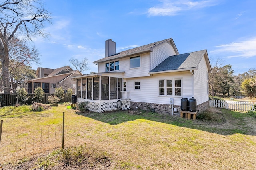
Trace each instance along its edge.
{"label": "screened porch with white lattice skirting on the house's left side", "polygon": [[89,101],[89,110],[96,112],[130,109],[130,92],[126,91],[122,73],[107,75],[95,73],[73,77],[77,102]]}

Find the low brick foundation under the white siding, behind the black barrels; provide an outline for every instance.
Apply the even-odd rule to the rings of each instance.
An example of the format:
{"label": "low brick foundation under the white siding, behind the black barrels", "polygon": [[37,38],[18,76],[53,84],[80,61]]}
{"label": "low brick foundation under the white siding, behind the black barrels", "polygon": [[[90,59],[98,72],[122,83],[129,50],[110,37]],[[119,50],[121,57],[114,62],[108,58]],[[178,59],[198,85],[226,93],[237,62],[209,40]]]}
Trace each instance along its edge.
{"label": "low brick foundation under the white siding, behind the black barrels", "polygon": [[[156,111],[158,113],[172,114],[172,110],[169,108],[169,104],[157,104],[157,103],[144,103],[144,102],[130,102],[130,108],[136,110],[136,107],[141,110],[146,111]],[[205,109],[209,107],[209,101],[197,105],[197,113],[202,113]],[[173,108],[177,109],[174,114],[180,115],[180,105],[173,105]]]}

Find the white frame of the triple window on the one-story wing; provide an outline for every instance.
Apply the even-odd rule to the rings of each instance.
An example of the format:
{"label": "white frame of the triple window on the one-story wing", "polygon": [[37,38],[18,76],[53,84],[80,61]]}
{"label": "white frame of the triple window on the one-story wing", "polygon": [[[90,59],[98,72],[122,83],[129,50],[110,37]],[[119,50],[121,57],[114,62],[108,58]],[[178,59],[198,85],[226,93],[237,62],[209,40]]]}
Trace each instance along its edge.
{"label": "white frame of the triple window on the one-story wing", "polygon": [[[163,81],[164,80],[164,95],[159,94],[159,81]],[[167,80],[172,80],[172,95],[167,95]],[[180,85],[181,85],[181,95],[175,95],[175,80],[180,80]],[[182,97],[183,96],[183,80],[182,78],[167,78],[167,79],[159,79],[158,80],[158,96],[159,97]],[[178,87],[179,88],[179,87]]]}

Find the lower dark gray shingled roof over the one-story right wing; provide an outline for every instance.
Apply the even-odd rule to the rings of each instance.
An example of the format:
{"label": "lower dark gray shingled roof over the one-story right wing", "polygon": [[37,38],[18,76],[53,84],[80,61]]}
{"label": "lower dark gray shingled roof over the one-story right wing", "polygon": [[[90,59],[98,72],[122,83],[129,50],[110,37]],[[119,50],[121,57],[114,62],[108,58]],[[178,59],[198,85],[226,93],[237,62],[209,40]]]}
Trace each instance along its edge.
{"label": "lower dark gray shingled roof over the one-story right wing", "polygon": [[202,51],[170,56],[150,72],[179,70],[179,69],[185,69],[185,68],[196,68],[200,63],[202,57],[204,57],[205,53],[206,53],[206,50],[202,50]]}

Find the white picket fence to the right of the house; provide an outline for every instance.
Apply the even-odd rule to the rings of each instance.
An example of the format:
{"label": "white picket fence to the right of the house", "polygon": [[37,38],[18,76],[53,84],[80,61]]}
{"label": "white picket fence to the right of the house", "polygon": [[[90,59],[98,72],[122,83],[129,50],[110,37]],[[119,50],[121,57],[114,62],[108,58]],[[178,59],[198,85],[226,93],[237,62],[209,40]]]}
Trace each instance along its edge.
{"label": "white picket fence to the right of the house", "polygon": [[209,100],[209,102],[210,107],[218,107],[240,112],[256,111],[252,102],[232,102],[220,100]]}

